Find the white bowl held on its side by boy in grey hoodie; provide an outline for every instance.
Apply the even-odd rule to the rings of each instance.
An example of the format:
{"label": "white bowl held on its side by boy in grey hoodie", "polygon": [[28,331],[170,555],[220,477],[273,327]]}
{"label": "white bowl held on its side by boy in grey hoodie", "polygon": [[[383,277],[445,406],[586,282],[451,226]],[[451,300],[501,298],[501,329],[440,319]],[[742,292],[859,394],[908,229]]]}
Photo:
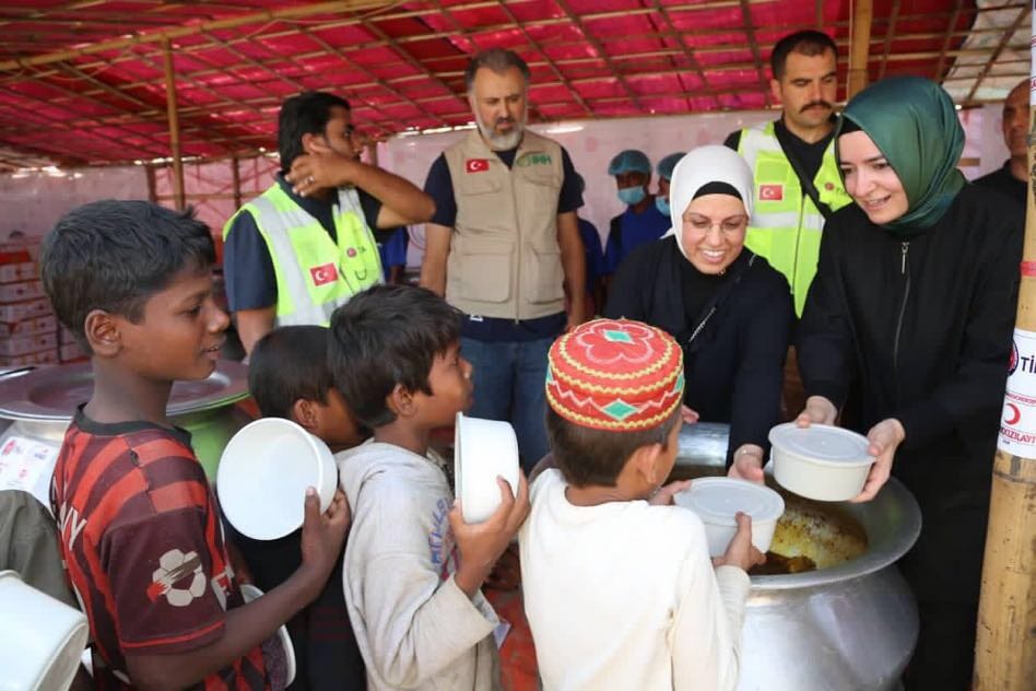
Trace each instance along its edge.
{"label": "white bowl held on its side by boy in grey hoodie", "polygon": [[482,523],[501,505],[499,476],[518,496],[518,440],[509,422],[457,413],[454,485],[464,523]]}

